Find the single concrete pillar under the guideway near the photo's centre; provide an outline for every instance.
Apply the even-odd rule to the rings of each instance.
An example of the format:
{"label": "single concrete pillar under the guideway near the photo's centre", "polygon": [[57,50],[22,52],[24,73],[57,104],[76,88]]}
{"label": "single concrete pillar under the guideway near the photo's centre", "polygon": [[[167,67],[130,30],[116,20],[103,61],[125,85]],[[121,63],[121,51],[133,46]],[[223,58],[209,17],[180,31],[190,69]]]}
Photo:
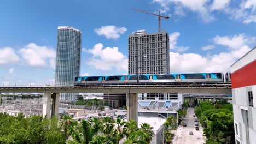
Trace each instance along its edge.
{"label": "single concrete pillar under the guideway near the photo's centre", "polygon": [[127,93],[126,105],[127,105],[127,122],[129,122],[130,119],[132,119],[138,123],[138,94]]}

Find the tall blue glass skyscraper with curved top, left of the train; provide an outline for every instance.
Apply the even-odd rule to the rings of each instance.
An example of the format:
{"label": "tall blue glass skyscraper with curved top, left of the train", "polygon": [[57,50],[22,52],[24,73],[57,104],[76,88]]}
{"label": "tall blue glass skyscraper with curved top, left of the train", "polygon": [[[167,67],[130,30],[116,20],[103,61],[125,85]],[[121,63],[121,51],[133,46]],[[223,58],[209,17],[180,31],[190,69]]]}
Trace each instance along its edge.
{"label": "tall blue glass skyscraper with curved top, left of the train", "polygon": [[[80,74],[82,32],[76,28],[59,26],[55,67],[55,86],[73,85]],[[60,100],[76,100],[76,93],[61,93]]]}

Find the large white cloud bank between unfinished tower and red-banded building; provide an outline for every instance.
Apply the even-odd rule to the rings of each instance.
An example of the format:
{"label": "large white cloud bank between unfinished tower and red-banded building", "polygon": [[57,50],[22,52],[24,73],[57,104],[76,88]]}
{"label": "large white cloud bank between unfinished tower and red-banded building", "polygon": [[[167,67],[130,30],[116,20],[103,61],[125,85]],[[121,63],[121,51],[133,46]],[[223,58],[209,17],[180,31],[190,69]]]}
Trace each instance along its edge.
{"label": "large white cloud bank between unfinished tower and red-banded building", "polygon": [[[251,48],[249,44],[254,37],[247,37],[244,34],[234,36],[217,35],[213,41],[217,45],[228,47],[228,52],[221,52],[216,55],[202,56],[197,53],[170,52],[170,68],[172,73],[198,73],[198,72],[226,72],[230,71],[230,65],[245,55]],[[237,45],[235,45],[235,44]]]}

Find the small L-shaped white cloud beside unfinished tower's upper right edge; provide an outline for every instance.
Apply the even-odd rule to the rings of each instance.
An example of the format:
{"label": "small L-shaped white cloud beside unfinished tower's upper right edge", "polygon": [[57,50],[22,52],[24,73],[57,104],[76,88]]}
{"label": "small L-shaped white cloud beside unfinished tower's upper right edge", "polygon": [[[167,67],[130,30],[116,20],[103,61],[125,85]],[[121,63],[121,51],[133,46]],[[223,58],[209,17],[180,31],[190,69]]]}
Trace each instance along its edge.
{"label": "small L-shaped white cloud beside unfinished tower's upper right edge", "polygon": [[173,32],[169,35],[169,48],[170,50],[178,52],[187,51],[189,46],[176,46],[179,35],[179,32]]}

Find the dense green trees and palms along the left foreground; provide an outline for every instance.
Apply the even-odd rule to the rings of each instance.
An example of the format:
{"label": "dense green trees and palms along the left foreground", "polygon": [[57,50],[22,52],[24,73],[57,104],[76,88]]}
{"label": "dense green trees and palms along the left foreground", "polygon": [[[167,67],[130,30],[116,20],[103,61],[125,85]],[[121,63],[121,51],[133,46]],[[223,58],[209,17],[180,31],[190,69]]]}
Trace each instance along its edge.
{"label": "dense green trees and palms along the left foreground", "polygon": [[150,143],[154,136],[153,127],[142,123],[137,127],[135,121],[104,117],[90,121],[74,121],[64,115],[48,119],[41,115],[24,117],[0,113],[0,143]]}

